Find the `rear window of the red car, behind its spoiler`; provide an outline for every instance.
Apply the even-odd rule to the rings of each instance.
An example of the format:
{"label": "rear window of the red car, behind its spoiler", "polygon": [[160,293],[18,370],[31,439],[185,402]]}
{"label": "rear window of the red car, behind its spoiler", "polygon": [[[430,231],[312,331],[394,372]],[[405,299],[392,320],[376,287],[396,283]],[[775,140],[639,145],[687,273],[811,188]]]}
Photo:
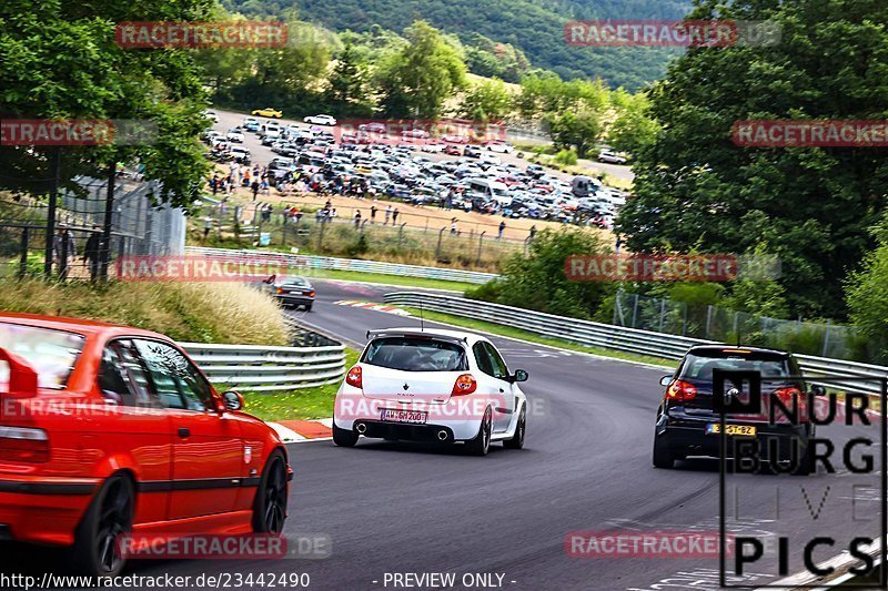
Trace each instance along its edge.
{"label": "rear window of the red car, behind its spoiler", "polygon": [[[0,347],[28,361],[40,388],[65,386],[84,340],[74,333],[0,322]],[[0,363],[0,391],[7,391],[8,385],[9,365]]]}

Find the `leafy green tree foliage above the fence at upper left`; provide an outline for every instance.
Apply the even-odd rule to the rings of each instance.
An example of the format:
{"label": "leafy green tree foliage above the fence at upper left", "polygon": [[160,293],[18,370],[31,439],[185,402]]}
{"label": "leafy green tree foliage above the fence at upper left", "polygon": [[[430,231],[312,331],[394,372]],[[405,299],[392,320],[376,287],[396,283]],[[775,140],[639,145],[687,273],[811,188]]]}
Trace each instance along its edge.
{"label": "leafy green tree foliage above the fence at upper left", "polygon": [[[145,177],[161,182],[159,200],[188,206],[209,169],[196,139],[206,123],[200,69],[188,52],[118,45],[114,23],[211,17],[206,0],[9,0],[0,6],[0,112],[4,119],[147,121],[149,133],[135,145],[64,147],[60,185],[75,191],[77,174],[105,176],[112,164],[139,160]],[[54,152],[3,149],[0,187],[46,193]]]}

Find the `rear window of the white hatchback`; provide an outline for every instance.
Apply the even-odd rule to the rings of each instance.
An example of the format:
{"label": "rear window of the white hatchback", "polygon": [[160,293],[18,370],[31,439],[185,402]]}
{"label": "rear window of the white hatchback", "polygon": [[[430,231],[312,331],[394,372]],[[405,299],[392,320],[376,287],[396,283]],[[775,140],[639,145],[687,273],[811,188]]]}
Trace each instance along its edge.
{"label": "rear window of the white hatchback", "polygon": [[370,344],[361,361],[402,371],[465,371],[465,349],[455,343],[423,337],[383,337]]}

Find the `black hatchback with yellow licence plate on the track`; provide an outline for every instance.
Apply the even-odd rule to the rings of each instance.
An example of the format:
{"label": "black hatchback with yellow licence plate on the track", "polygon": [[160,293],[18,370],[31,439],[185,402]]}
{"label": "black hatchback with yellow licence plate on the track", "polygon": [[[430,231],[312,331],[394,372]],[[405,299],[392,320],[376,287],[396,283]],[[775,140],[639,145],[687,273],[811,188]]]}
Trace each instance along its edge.
{"label": "black hatchback with yellow licence plate on the track", "polygon": [[[675,374],[660,380],[666,391],[657,409],[654,466],[673,468],[676,460],[689,456],[719,457],[720,412],[714,410],[713,400],[717,369],[754,371],[761,379],[759,412],[725,415],[725,430],[733,440],[727,446],[727,457],[733,455],[734,446],[749,449],[748,446],[755,445],[763,460],[791,463],[794,473],[809,473],[813,454],[808,442],[814,437],[814,424],[807,416],[808,390],[798,379],[801,375],[798,363],[791,354],[753,347],[692,347]],[[748,383],[733,384],[728,379],[723,397],[748,403],[749,389]],[[819,386],[810,391],[824,394]],[[784,412],[783,408],[795,410],[796,416]],[[769,419],[771,415],[774,420]],[[773,457],[775,454],[777,457]]]}

